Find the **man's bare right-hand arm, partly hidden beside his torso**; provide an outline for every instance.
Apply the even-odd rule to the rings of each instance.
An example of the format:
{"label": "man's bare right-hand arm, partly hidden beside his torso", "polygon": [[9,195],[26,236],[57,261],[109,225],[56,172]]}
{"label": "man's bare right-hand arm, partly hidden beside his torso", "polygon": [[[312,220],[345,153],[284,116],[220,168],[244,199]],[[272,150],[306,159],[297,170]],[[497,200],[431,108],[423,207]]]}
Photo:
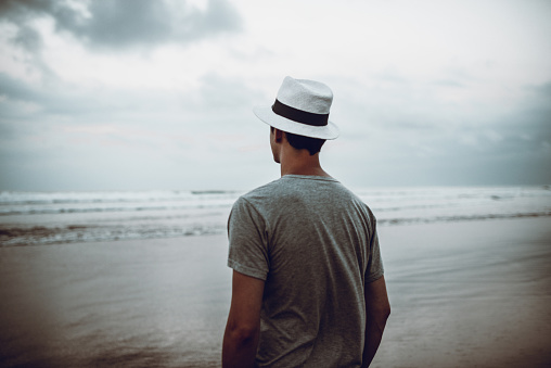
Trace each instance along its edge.
{"label": "man's bare right-hand arm, partly hidden beside his torso", "polygon": [[362,367],[369,367],[375,356],[386,319],[390,315],[390,303],[386,294],[384,276],[380,279],[366,283],[363,288],[366,297],[366,343],[363,345]]}

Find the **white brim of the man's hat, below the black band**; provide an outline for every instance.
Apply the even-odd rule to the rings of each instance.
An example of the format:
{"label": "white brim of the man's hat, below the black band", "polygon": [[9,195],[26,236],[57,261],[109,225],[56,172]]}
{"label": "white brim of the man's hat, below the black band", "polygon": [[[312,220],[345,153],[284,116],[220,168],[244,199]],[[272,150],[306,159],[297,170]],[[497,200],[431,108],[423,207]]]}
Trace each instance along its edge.
{"label": "white brim of the man's hat, below the black band", "polygon": [[274,127],[276,129],[280,129],[286,132],[292,132],[294,135],[310,137],[310,138],[319,138],[319,139],[335,139],[338,137],[338,128],[332,123],[328,122],[328,125],[322,127],[306,125],[297,122],[293,122],[289,118],[280,116],[276,114],[271,106],[257,106],[253,109],[255,115],[268,124],[269,126]]}

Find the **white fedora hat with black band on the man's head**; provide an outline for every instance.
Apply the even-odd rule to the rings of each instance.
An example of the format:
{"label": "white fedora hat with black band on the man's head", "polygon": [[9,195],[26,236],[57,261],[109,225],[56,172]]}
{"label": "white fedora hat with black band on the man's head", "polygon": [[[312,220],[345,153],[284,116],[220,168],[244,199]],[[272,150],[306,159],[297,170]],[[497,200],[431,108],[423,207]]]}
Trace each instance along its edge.
{"label": "white fedora hat with black band on the man's head", "polygon": [[253,110],[264,123],[298,136],[335,139],[338,128],[329,120],[333,92],[322,83],[285,77],[271,106]]}

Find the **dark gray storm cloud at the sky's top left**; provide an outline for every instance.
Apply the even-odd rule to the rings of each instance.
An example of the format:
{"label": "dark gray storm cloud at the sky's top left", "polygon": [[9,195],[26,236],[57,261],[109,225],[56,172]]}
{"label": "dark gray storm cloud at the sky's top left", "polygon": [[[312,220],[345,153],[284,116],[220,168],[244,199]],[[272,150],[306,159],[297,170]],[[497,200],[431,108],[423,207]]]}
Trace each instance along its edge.
{"label": "dark gray storm cloud at the sky's top left", "polygon": [[40,46],[37,33],[26,23],[42,15],[53,17],[57,31],[107,49],[189,43],[240,28],[240,16],[227,0],[209,0],[204,11],[184,8],[185,11],[175,11],[165,2],[149,0],[92,1],[88,16],[60,1],[8,0],[0,2],[0,18],[20,25],[14,41],[26,48]]}

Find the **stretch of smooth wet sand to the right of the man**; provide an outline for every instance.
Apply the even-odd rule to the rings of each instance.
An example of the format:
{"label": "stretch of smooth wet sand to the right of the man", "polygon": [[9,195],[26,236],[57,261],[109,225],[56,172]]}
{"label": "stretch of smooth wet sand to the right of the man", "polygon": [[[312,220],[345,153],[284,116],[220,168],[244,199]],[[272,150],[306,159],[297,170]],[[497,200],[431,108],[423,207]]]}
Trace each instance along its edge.
{"label": "stretch of smooth wet sand to the right of the man", "polygon": [[549,367],[549,218],[381,228],[393,307],[372,367]]}

